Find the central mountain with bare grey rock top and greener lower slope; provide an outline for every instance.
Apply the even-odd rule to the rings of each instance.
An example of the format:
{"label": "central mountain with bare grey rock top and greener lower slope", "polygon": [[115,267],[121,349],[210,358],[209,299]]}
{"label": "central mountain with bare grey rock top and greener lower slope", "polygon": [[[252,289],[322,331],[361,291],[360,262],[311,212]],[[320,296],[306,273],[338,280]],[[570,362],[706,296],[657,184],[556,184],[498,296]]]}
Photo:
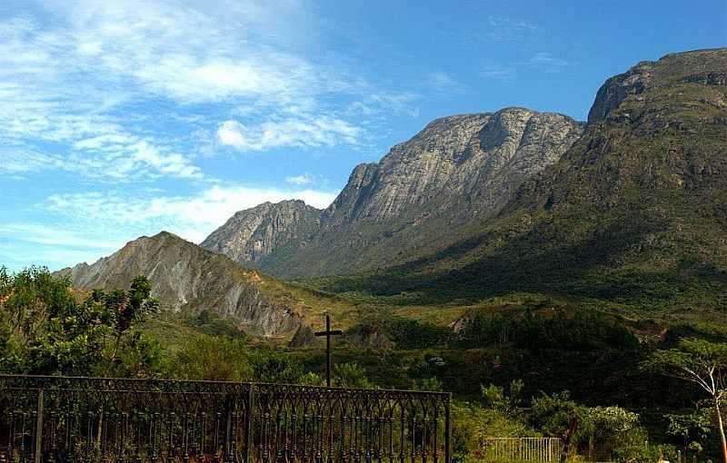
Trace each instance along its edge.
{"label": "central mountain with bare grey rock top and greener lower slope", "polygon": [[304,246],[290,241],[260,266],[281,276],[348,273],[443,247],[498,212],[582,132],[567,116],[523,108],[435,120],[381,162],[357,166]]}

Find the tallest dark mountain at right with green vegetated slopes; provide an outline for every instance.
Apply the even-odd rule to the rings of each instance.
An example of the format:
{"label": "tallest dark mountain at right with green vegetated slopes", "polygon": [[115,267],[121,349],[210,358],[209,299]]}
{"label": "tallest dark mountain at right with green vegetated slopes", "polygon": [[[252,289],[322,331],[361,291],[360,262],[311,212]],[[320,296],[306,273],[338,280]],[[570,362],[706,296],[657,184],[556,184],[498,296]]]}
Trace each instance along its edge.
{"label": "tallest dark mountain at right with green vegetated slopes", "polygon": [[609,79],[583,137],[523,182],[477,236],[328,289],[426,300],[553,291],[727,307],[727,49]]}

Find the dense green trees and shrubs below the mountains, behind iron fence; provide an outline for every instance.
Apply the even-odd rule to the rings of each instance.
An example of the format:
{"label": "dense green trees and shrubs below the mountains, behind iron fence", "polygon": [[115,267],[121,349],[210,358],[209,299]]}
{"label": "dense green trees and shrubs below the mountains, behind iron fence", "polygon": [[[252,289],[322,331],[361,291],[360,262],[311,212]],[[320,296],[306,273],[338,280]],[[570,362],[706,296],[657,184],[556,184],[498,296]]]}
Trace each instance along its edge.
{"label": "dense green trees and shrubs below the mountains, behind iron fence", "polygon": [[[156,313],[151,284],[140,277],[127,291],[83,295],[45,270],[0,271],[0,368],[323,384],[319,346],[275,347],[211,312]],[[680,325],[644,342],[637,334],[648,325],[549,300],[473,308],[453,328],[405,315],[373,311],[346,330],[334,352],[334,384],[453,391],[459,460],[485,458],[489,437],[563,438],[573,418],[573,454],[718,455],[713,400],[662,375],[668,371],[645,368],[666,355],[659,352],[689,351],[685,338],[725,346],[723,330]]]}

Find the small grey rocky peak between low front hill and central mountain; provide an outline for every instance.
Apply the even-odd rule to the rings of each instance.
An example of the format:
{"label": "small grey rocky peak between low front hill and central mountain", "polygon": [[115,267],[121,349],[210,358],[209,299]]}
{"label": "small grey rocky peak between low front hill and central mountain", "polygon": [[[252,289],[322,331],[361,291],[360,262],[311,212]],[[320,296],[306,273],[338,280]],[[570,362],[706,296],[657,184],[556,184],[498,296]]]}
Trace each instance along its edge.
{"label": "small grey rocky peak between low front hill and central mountain", "polygon": [[303,246],[317,230],[320,218],[321,211],[302,201],[264,202],[236,212],[201,246],[234,261],[255,264],[290,242]]}

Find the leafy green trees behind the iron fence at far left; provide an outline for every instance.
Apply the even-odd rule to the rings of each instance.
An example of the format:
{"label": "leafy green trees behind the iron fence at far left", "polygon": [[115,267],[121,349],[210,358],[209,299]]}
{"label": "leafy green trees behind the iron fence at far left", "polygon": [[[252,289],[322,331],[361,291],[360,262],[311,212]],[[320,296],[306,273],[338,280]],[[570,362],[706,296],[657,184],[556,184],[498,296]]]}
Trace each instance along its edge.
{"label": "leafy green trees behind the iron fence at far left", "polygon": [[0,368],[35,374],[148,376],[159,348],[138,330],[156,310],[151,282],[96,290],[78,303],[71,281],[32,267],[0,271]]}

